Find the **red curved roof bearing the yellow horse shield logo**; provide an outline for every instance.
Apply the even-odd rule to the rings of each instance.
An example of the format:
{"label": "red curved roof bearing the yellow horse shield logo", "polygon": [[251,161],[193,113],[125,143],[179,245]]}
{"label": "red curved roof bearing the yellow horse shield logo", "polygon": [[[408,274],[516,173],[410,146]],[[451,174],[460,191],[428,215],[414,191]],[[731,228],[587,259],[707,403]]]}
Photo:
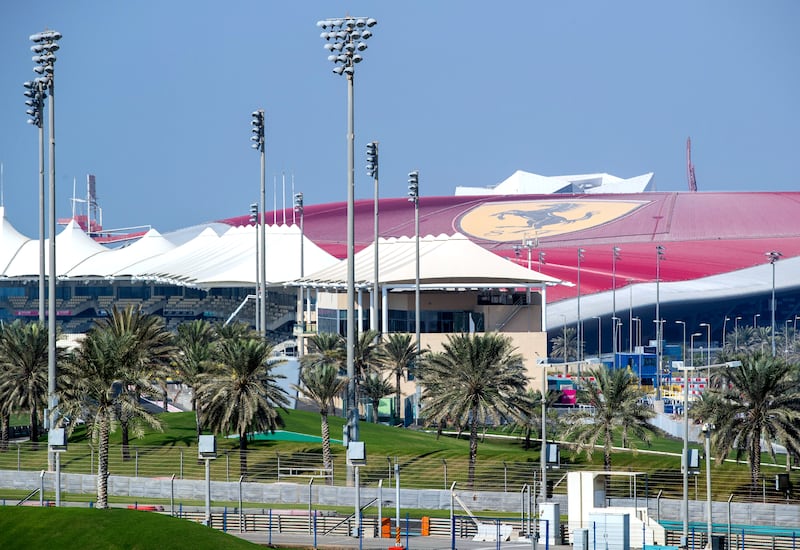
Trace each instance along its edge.
{"label": "red curved roof bearing the yellow horse shield logo", "polygon": [[[582,214],[581,214],[582,213]],[[291,213],[289,212],[289,217]],[[372,200],[355,203],[355,241],[360,250],[374,235]],[[305,234],[331,254],[346,257],[347,205],[305,207]],[[223,220],[240,225],[247,216]],[[473,223],[474,222],[474,223]],[[406,199],[382,199],[380,236],[414,234],[413,205]],[[488,225],[487,225],[488,224]],[[491,226],[491,227],[490,227]],[[484,228],[472,231],[475,227]],[[546,254],[541,271],[577,282],[578,248],[581,294],[612,288],[612,247],[618,246],[616,284],[654,281],[656,246],[664,247],[662,281],[689,280],[766,262],[764,253],[800,255],[800,193],[642,193],[613,195],[515,195],[421,197],[420,232],[462,232],[493,252],[527,266],[528,251],[517,257],[514,245],[537,239]],[[548,301],[573,297],[576,287],[548,291]]]}

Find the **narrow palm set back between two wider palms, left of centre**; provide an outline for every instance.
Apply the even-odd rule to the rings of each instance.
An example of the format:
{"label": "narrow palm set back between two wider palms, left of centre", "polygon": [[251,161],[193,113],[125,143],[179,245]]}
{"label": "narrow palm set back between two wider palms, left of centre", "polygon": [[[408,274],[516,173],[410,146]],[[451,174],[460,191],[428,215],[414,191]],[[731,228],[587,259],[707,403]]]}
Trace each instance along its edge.
{"label": "narrow palm set back between two wider palms, left of centre", "polygon": [[200,403],[195,388],[200,375],[212,365],[215,338],[216,333],[211,324],[196,319],[178,325],[175,339],[179,352],[175,358],[175,366],[183,383],[192,388],[192,410],[195,412],[198,437],[202,433],[203,425],[200,422]]}

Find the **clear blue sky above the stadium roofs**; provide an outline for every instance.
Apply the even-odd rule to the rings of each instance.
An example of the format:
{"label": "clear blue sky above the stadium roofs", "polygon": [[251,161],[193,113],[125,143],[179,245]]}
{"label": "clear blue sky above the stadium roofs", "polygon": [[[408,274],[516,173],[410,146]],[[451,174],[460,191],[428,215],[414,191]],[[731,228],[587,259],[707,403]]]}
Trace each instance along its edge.
{"label": "clear blue sky above the stadium roofs", "polygon": [[[6,215],[37,232],[37,132],[22,82],[32,33],[56,63],[58,215],[97,176],[106,227],[162,232],[247,213],[258,197],[250,113],[267,113],[267,187],[346,198],[346,83],[318,19],[378,20],[357,66],[356,197],[364,147],[381,195],[544,175],[655,172],[700,191],[796,190],[800,3],[794,0],[338,2],[16,0],[0,4]],[[282,203],[280,183],[278,206]],[[291,204],[287,183],[287,205]],[[271,209],[272,204],[268,205]]]}

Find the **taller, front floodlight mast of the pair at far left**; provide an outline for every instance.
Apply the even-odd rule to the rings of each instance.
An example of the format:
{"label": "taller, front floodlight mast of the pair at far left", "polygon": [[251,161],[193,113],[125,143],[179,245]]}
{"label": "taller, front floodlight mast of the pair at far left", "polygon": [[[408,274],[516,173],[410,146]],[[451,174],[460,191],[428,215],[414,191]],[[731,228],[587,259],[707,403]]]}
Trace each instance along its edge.
{"label": "taller, front floodlight mast of the pair at far left", "polygon": [[[55,124],[55,52],[58,51],[58,41],[61,33],[48,30],[32,34],[30,36],[33,46],[31,51],[36,54],[33,62],[37,65],[33,68],[34,72],[42,75],[42,84],[48,92],[49,104],[49,196],[50,203],[48,217],[50,224],[50,243],[49,243],[49,276],[48,276],[48,300],[47,300],[47,403],[48,403],[48,429],[55,428],[58,421],[58,396],[56,394],[56,124]],[[38,79],[37,79],[38,80]],[[41,113],[40,113],[41,114]],[[43,205],[40,204],[43,209]],[[41,229],[41,224],[40,224]],[[41,246],[41,245],[40,245]],[[41,251],[41,248],[40,248]],[[40,258],[41,267],[41,258]],[[40,287],[41,288],[41,287]]]}

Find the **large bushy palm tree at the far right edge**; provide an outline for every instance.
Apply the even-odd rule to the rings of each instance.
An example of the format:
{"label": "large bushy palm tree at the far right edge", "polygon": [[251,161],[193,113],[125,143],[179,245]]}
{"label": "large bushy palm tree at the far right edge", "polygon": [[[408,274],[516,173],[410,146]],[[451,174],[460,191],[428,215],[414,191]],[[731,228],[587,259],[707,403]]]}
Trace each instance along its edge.
{"label": "large bushy palm tree at the far right edge", "polygon": [[775,458],[773,443],[800,453],[800,376],[797,367],[771,351],[737,356],[711,376],[705,399],[689,414],[714,424],[712,443],[717,460],[731,451],[747,455],[753,489],[761,474],[761,442]]}

